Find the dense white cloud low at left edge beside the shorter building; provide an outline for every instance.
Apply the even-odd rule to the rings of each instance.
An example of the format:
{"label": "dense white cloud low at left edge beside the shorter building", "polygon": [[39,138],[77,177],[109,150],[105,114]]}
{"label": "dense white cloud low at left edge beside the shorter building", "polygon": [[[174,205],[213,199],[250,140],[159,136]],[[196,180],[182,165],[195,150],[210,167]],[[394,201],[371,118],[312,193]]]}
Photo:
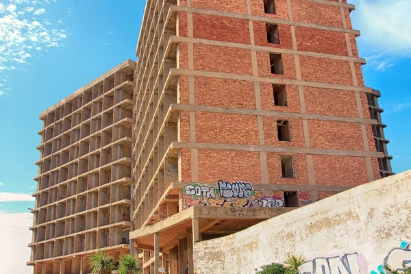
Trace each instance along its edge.
{"label": "dense white cloud low at left edge beside the shorter building", "polygon": [[0,212],[0,273],[32,274],[33,267],[27,266],[30,260],[33,216],[30,213],[2,213]]}

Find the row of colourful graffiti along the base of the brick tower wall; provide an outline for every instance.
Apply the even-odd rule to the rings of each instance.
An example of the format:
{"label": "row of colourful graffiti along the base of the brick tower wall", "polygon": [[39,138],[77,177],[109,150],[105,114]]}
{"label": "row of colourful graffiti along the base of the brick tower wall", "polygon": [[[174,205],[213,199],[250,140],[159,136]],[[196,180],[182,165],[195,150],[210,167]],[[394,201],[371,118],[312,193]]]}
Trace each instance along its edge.
{"label": "row of colourful graffiti along the base of the brick tower wall", "polygon": [[281,197],[262,197],[256,195],[256,190],[249,182],[219,181],[217,187],[188,184],[184,186],[186,195],[184,202],[191,206],[222,206],[230,208],[281,208],[284,199]]}

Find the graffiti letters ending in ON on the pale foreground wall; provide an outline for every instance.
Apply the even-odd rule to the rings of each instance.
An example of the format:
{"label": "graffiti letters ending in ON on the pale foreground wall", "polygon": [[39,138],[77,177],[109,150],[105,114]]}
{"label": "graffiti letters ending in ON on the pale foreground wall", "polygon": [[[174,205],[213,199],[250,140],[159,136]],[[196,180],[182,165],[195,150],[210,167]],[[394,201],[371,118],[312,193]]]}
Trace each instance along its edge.
{"label": "graffiti letters ending in ON on the pale foreground wall", "polygon": [[360,263],[357,253],[345,254],[343,257],[315,258],[301,266],[301,274],[357,274]]}

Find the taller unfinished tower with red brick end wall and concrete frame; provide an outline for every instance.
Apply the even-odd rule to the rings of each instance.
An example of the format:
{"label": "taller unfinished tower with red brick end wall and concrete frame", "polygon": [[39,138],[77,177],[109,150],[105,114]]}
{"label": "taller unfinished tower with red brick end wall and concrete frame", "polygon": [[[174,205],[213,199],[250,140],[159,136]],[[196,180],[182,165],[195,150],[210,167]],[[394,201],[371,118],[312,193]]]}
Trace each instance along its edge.
{"label": "taller unfinished tower with red brick end wall and concrete frame", "polygon": [[354,8],[147,1],[130,234],[145,273],[192,274],[196,242],[391,174]]}

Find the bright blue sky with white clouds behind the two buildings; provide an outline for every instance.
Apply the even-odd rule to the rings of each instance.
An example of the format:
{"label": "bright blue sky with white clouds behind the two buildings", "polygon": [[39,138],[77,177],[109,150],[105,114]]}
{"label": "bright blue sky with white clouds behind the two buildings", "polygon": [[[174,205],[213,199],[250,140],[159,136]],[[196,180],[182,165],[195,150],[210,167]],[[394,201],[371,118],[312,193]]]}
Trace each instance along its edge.
{"label": "bright blue sky with white clouds behind the two buildings", "polygon": [[[382,92],[393,169],[406,171],[411,168],[411,1],[350,2],[357,7],[353,26],[362,33],[360,56],[368,61],[366,86]],[[136,60],[144,5],[142,0],[0,0],[0,223],[14,223],[0,235],[21,229],[21,252],[27,254],[16,262],[21,273],[30,272],[24,262],[42,126],[38,114],[123,60]]]}

